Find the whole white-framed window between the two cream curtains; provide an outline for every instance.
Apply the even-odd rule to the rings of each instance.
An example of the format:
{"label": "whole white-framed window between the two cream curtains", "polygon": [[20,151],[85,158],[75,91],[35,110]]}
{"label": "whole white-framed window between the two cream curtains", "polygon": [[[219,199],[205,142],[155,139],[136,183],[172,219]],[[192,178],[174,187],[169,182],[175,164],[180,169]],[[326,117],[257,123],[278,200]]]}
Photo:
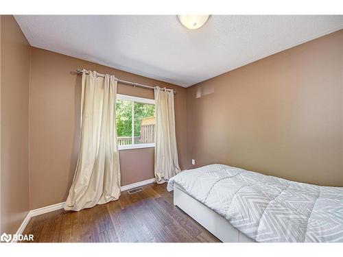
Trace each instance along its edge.
{"label": "whole white-framed window between the two cream curtains", "polygon": [[155,100],[117,95],[118,148],[155,146]]}

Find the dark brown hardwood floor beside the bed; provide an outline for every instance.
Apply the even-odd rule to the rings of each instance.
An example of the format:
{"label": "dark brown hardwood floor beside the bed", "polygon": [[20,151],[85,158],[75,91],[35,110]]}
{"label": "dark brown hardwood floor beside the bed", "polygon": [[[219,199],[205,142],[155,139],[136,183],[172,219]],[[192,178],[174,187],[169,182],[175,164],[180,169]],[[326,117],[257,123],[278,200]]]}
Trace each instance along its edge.
{"label": "dark brown hardwood floor beside the bed", "polygon": [[173,205],[166,184],[142,187],[80,212],[32,217],[23,234],[34,234],[34,242],[220,242]]}

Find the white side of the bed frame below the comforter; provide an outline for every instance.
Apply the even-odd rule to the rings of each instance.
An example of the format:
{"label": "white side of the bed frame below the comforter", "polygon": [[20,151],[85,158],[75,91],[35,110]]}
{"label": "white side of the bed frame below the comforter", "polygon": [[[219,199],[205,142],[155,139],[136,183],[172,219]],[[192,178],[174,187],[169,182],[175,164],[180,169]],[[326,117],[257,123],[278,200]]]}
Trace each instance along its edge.
{"label": "white side of the bed frame below the comforter", "polygon": [[224,217],[200,203],[174,183],[174,205],[198,221],[206,230],[225,243],[255,242],[233,227]]}

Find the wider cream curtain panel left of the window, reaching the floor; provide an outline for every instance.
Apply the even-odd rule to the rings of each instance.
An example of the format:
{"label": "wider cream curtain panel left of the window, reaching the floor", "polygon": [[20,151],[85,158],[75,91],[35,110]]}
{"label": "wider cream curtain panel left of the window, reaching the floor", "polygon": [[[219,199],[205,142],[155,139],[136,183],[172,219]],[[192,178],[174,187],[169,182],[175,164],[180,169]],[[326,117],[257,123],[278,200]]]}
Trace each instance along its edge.
{"label": "wider cream curtain panel left of the window, reaching the floor", "polygon": [[82,74],[80,152],[64,210],[82,210],[119,198],[116,97],[114,76],[97,77],[95,71]]}

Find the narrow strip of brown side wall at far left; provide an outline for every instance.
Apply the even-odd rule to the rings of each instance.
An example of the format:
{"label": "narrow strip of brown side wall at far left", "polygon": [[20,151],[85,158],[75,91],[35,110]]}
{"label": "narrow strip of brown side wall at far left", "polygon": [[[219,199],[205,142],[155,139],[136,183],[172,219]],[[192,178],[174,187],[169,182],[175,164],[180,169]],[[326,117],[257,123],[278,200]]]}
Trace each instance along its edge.
{"label": "narrow strip of brown side wall at far left", "polygon": [[13,16],[1,19],[1,233],[29,210],[30,47]]}

